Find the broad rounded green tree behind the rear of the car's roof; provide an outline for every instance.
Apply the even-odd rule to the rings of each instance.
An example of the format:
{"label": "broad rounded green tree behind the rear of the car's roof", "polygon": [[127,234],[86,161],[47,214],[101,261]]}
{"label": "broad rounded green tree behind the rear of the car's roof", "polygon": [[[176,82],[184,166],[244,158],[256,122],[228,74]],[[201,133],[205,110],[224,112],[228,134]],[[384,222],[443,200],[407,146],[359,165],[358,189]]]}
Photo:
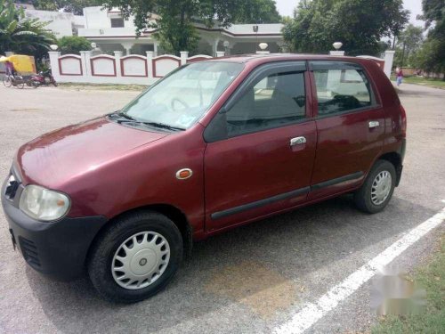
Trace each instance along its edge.
{"label": "broad rounded green tree behind the rear of the car's roof", "polygon": [[377,55],[382,37],[397,36],[408,22],[402,0],[302,0],[283,35],[295,51],[328,53],[340,41],[351,55]]}

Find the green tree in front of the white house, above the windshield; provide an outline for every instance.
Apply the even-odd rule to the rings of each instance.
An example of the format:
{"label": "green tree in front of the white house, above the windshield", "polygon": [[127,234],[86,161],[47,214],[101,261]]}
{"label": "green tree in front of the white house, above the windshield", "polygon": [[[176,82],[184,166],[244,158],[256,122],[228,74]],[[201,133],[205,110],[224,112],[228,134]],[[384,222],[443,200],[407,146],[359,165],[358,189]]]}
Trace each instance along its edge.
{"label": "green tree in front of the white house, above the windshield", "polygon": [[[125,19],[134,17],[136,34],[148,28],[157,29],[155,37],[166,52],[193,53],[198,47],[196,23],[206,27],[228,27],[240,20],[274,20],[271,0],[105,0],[108,8],[118,7]],[[261,5],[260,5],[261,4]],[[269,5],[269,7],[268,7]],[[255,12],[249,13],[249,8]],[[239,12],[238,12],[239,11]]]}

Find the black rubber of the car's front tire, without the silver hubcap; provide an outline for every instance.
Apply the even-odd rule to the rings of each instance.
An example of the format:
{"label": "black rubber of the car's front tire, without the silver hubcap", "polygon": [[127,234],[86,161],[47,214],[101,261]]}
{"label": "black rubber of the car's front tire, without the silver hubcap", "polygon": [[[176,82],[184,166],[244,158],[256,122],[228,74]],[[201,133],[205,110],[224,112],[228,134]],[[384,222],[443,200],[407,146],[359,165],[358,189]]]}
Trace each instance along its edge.
{"label": "black rubber of the car's front tire, without the silver hubcap", "polygon": [[[164,273],[142,289],[125,289],[111,273],[113,257],[121,244],[138,232],[162,235],[170,248],[170,259]],[[134,303],[156,295],[174,277],[182,262],[182,236],[177,226],[166,216],[151,211],[138,211],[117,219],[93,244],[87,270],[93,286],[101,297],[117,303]]]}

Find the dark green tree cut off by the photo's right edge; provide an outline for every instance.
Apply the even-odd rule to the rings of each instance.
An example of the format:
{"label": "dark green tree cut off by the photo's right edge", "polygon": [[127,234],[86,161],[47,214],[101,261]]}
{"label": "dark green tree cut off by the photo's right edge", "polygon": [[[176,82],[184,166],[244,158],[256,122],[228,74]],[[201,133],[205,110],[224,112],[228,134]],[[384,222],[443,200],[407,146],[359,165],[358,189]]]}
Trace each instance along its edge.
{"label": "dark green tree cut off by the photo's right edge", "polygon": [[445,80],[445,0],[422,0],[428,37],[417,56],[418,67],[444,74]]}

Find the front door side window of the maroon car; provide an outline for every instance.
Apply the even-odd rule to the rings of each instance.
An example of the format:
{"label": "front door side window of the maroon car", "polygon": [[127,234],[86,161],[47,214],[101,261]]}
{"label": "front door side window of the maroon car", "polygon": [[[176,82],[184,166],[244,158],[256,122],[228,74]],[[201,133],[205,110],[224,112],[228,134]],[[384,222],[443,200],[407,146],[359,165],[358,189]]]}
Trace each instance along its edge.
{"label": "front door side window of the maroon car", "polygon": [[255,81],[226,113],[229,137],[287,126],[305,117],[303,71],[278,72]]}

